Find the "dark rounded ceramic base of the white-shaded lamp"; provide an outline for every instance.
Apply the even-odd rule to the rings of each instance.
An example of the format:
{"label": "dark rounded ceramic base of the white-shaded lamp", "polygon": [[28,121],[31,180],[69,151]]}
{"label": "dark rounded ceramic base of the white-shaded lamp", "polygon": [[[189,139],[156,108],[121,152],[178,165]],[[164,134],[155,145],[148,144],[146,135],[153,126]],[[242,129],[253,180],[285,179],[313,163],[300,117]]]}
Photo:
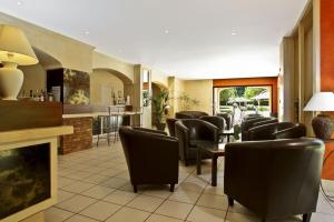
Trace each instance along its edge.
{"label": "dark rounded ceramic base of the white-shaded lamp", "polygon": [[330,117],[318,115],[312,120],[312,127],[316,138],[330,140],[334,130],[334,122]]}

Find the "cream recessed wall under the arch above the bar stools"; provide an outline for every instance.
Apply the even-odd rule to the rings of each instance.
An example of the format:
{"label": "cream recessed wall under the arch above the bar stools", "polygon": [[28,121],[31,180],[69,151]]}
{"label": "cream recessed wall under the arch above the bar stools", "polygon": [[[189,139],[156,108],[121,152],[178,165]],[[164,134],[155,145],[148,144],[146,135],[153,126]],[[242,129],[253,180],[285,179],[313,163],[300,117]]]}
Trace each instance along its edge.
{"label": "cream recessed wall under the arch above the bar stools", "polygon": [[111,92],[116,97],[121,91],[124,97],[124,82],[111,72],[94,70],[90,75],[90,102],[92,105],[112,104]]}

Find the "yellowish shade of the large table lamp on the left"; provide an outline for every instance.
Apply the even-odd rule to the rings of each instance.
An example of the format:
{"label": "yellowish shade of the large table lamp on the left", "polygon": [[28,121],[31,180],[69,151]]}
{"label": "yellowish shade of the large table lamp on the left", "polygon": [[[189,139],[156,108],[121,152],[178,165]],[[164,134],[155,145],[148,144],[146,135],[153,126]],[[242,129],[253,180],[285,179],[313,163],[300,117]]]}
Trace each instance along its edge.
{"label": "yellowish shade of the large table lamp on the left", "polygon": [[0,62],[13,62],[20,65],[38,63],[28,39],[20,29],[0,24]]}

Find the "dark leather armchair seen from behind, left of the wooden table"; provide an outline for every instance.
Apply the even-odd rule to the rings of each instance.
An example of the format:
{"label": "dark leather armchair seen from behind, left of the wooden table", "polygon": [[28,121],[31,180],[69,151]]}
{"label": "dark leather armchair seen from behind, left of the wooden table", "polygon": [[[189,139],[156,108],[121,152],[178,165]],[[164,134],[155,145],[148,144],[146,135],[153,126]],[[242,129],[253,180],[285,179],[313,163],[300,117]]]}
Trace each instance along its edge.
{"label": "dark leather armchair seen from behind, left of the wooden table", "polygon": [[140,184],[178,183],[178,141],[166,132],[121,127],[119,137],[126,157],[134,192]]}

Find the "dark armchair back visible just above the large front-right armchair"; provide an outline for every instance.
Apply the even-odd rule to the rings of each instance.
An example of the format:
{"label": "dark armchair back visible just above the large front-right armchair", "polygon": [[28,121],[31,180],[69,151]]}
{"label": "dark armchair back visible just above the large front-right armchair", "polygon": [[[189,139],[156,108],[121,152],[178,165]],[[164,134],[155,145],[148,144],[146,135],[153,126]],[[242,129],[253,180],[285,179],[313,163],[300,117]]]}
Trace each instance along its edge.
{"label": "dark armchair back visible just above the large front-right armchair", "polygon": [[306,137],[306,128],[302,123],[275,122],[250,128],[247,133],[248,141],[297,139]]}

